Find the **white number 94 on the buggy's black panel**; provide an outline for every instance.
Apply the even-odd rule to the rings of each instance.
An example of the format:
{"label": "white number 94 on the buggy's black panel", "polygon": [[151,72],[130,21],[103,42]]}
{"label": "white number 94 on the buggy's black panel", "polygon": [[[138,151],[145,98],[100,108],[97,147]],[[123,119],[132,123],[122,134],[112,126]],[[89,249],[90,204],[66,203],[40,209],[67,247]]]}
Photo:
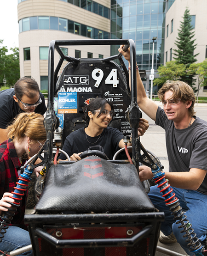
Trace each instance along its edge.
{"label": "white number 94 on the buggy's black panel", "polygon": [[[98,75],[99,74],[99,75]],[[95,87],[98,87],[104,77],[104,72],[100,68],[96,68],[92,71],[92,79],[96,80]],[[117,79],[117,69],[113,68],[105,79],[105,84],[112,84],[113,87],[117,87],[119,80]]]}

